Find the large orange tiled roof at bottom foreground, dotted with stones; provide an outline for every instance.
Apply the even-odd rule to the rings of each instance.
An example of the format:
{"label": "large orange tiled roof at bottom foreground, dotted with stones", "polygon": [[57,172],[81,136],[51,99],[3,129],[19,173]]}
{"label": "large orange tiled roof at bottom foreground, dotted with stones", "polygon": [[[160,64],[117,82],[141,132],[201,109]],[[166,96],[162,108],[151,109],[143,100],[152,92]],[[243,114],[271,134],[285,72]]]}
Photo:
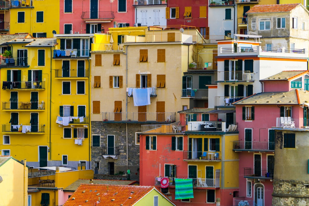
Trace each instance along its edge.
{"label": "large orange tiled roof at bottom foreground, dotted with stones", "polygon": [[63,206],[129,206],[153,189],[153,186],[81,184]]}

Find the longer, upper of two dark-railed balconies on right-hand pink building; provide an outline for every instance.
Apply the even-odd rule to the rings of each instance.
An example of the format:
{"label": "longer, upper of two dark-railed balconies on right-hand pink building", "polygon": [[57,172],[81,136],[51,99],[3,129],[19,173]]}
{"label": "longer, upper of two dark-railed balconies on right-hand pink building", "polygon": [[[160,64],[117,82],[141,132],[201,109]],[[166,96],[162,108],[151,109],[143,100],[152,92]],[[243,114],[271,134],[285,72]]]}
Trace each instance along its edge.
{"label": "longer, upper of two dark-railed balconies on right-hand pink building", "polygon": [[241,151],[275,151],[275,142],[231,141],[235,152]]}

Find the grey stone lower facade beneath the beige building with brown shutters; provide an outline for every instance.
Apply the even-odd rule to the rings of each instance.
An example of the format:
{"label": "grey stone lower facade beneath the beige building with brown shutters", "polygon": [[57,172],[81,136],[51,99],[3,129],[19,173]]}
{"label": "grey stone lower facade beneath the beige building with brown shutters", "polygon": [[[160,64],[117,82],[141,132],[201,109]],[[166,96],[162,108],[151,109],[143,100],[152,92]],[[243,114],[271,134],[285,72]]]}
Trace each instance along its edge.
{"label": "grey stone lower facade beneath the beige building with brown shutters", "polygon": [[[92,166],[99,162],[98,174],[109,174],[108,162],[114,162],[114,174],[127,172],[127,147],[128,169],[131,174],[139,175],[139,145],[135,145],[135,132],[141,132],[141,124],[128,123],[128,143],[126,143],[126,123],[106,123],[103,121],[91,122],[91,135],[100,135],[100,147],[91,148]],[[107,135],[115,136],[115,147],[119,147],[116,158],[103,157],[102,149],[107,147]]]}

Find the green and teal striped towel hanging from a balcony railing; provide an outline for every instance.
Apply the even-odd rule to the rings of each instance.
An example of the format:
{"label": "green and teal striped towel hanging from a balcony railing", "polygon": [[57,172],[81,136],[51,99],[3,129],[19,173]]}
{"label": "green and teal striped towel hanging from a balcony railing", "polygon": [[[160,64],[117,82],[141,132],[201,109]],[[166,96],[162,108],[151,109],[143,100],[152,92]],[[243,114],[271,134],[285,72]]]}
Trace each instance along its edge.
{"label": "green and teal striped towel hanging from a balcony railing", "polygon": [[193,198],[193,182],[192,179],[175,178],[175,199]]}

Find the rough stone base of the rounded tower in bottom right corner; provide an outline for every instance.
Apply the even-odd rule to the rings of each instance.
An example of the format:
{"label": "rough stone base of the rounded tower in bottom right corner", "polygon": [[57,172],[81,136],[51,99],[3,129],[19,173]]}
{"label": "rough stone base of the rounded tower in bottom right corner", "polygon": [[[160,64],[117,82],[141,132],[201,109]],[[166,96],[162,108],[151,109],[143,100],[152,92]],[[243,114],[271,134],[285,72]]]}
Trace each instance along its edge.
{"label": "rough stone base of the rounded tower in bottom right corner", "polygon": [[309,205],[309,181],[274,179],[272,205]]}

